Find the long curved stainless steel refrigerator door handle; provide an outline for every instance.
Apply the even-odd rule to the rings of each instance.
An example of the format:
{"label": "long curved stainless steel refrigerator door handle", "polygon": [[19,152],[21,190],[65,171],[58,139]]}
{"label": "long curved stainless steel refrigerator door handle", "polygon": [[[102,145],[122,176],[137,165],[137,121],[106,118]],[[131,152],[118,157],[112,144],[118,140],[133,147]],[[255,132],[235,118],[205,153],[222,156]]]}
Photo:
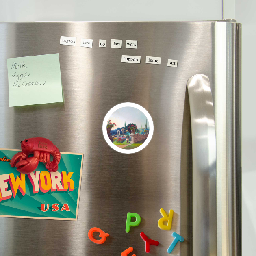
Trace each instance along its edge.
{"label": "long curved stainless steel refrigerator door handle", "polygon": [[193,255],[216,255],[216,134],[208,76],[192,76],[187,88],[193,154]]}

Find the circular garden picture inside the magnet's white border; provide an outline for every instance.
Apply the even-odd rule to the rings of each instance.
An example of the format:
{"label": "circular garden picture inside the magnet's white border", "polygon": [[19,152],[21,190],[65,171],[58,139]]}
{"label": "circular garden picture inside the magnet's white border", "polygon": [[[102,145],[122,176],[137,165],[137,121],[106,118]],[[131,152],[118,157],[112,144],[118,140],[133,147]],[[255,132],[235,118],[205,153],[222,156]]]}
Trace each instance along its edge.
{"label": "circular garden picture inside the magnet's white border", "polygon": [[130,106],[114,111],[108,118],[106,129],[113,145],[125,150],[141,146],[150,133],[149,121],[145,114]]}

